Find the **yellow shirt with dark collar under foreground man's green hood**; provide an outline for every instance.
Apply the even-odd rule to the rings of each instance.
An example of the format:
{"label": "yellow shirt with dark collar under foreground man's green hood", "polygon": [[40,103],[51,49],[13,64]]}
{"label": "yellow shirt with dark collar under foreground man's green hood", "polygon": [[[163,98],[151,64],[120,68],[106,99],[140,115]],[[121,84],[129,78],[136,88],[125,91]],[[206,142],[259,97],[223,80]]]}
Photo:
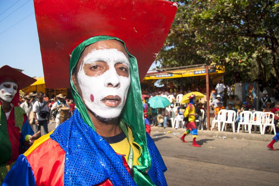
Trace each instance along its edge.
{"label": "yellow shirt with dark collar under foreground man's green hood", "polygon": [[[133,166],[134,165],[139,165],[138,159],[139,159],[139,156],[140,156],[140,153],[139,153],[139,148],[140,147],[139,147],[138,144],[136,144],[134,142],[134,137],[133,137],[132,131],[129,127],[128,127],[128,136],[129,136],[129,141],[131,142],[131,146],[132,146],[133,154],[134,154]],[[126,159],[127,162],[128,162],[128,155],[129,155],[129,152],[130,152],[129,141],[128,141],[127,138],[125,138],[125,139],[121,140],[120,142],[109,144],[116,153],[125,154],[126,155],[125,159]]]}

